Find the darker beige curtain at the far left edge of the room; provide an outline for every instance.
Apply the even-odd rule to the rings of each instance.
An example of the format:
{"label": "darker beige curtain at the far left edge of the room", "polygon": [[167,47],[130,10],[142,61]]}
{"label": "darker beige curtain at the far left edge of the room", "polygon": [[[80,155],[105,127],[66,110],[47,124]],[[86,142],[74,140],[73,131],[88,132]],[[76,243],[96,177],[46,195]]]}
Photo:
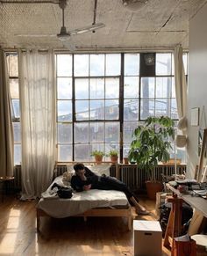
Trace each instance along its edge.
{"label": "darker beige curtain at the far left edge of the room", "polygon": [[0,49],[0,176],[13,176],[14,139],[5,54]]}

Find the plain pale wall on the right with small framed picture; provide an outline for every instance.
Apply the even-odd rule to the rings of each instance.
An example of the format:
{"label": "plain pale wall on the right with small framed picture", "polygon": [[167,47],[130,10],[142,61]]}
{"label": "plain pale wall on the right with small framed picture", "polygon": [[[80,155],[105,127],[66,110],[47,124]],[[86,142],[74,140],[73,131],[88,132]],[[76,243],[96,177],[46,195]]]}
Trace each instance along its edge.
{"label": "plain pale wall on the right with small framed picture", "polygon": [[[206,128],[207,115],[207,4],[189,22],[189,91],[188,91],[188,165],[189,178],[194,178],[199,163],[198,128],[190,125],[190,110],[200,108],[200,127]],[[204,111],[202,111],[204,108]],[[201,114],[203,112],[203,114]],[[203,118],[201,118],[203,116]]]}

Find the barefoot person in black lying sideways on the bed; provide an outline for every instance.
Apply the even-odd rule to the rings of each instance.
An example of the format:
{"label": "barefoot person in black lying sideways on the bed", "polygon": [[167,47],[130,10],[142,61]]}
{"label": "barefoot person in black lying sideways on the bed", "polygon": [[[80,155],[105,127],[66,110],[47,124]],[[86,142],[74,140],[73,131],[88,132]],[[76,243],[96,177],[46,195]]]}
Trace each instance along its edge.
{"label": "barefoot person in black lying sideways on the bed", "polygon": [[77,192],[89,189],[118,190],[125,193],[128,201],[136,208],[139,215],[149,215],[150,212],[139,204],[130,189],[122,181],[102,175],[98,176],[81,163],[74,165],[75,175],[72,176],[71,186]]}

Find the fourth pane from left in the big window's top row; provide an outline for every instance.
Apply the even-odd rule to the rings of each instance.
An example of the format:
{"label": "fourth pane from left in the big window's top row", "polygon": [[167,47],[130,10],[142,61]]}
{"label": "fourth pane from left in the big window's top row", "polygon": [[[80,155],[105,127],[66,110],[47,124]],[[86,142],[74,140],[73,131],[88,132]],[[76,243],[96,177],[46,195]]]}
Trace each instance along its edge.
{"label": "fourth pane from left in the big window's top row", "polygon": [[121,55],[106,55],[106,76],[119,76],[121,72]]}

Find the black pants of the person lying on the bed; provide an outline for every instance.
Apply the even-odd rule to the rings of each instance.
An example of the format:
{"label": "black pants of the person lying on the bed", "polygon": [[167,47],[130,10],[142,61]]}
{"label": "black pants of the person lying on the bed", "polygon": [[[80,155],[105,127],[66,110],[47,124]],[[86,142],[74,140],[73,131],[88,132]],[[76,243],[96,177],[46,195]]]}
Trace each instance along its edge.
{"label": "black pants of the person lying on the bed", "polygon": [[[103,190],[118,190],[125,193],[128,201],[132,204],[132,201],[130,201],[130,198],[134,196],[132,194],[132,191],[125,185],[124,182],[110,176],[101,177],[101,180],[96,183],[96,186],[93,187],[96,189],[103,189]],[[133,205],[133,204],[132,204]]]}

